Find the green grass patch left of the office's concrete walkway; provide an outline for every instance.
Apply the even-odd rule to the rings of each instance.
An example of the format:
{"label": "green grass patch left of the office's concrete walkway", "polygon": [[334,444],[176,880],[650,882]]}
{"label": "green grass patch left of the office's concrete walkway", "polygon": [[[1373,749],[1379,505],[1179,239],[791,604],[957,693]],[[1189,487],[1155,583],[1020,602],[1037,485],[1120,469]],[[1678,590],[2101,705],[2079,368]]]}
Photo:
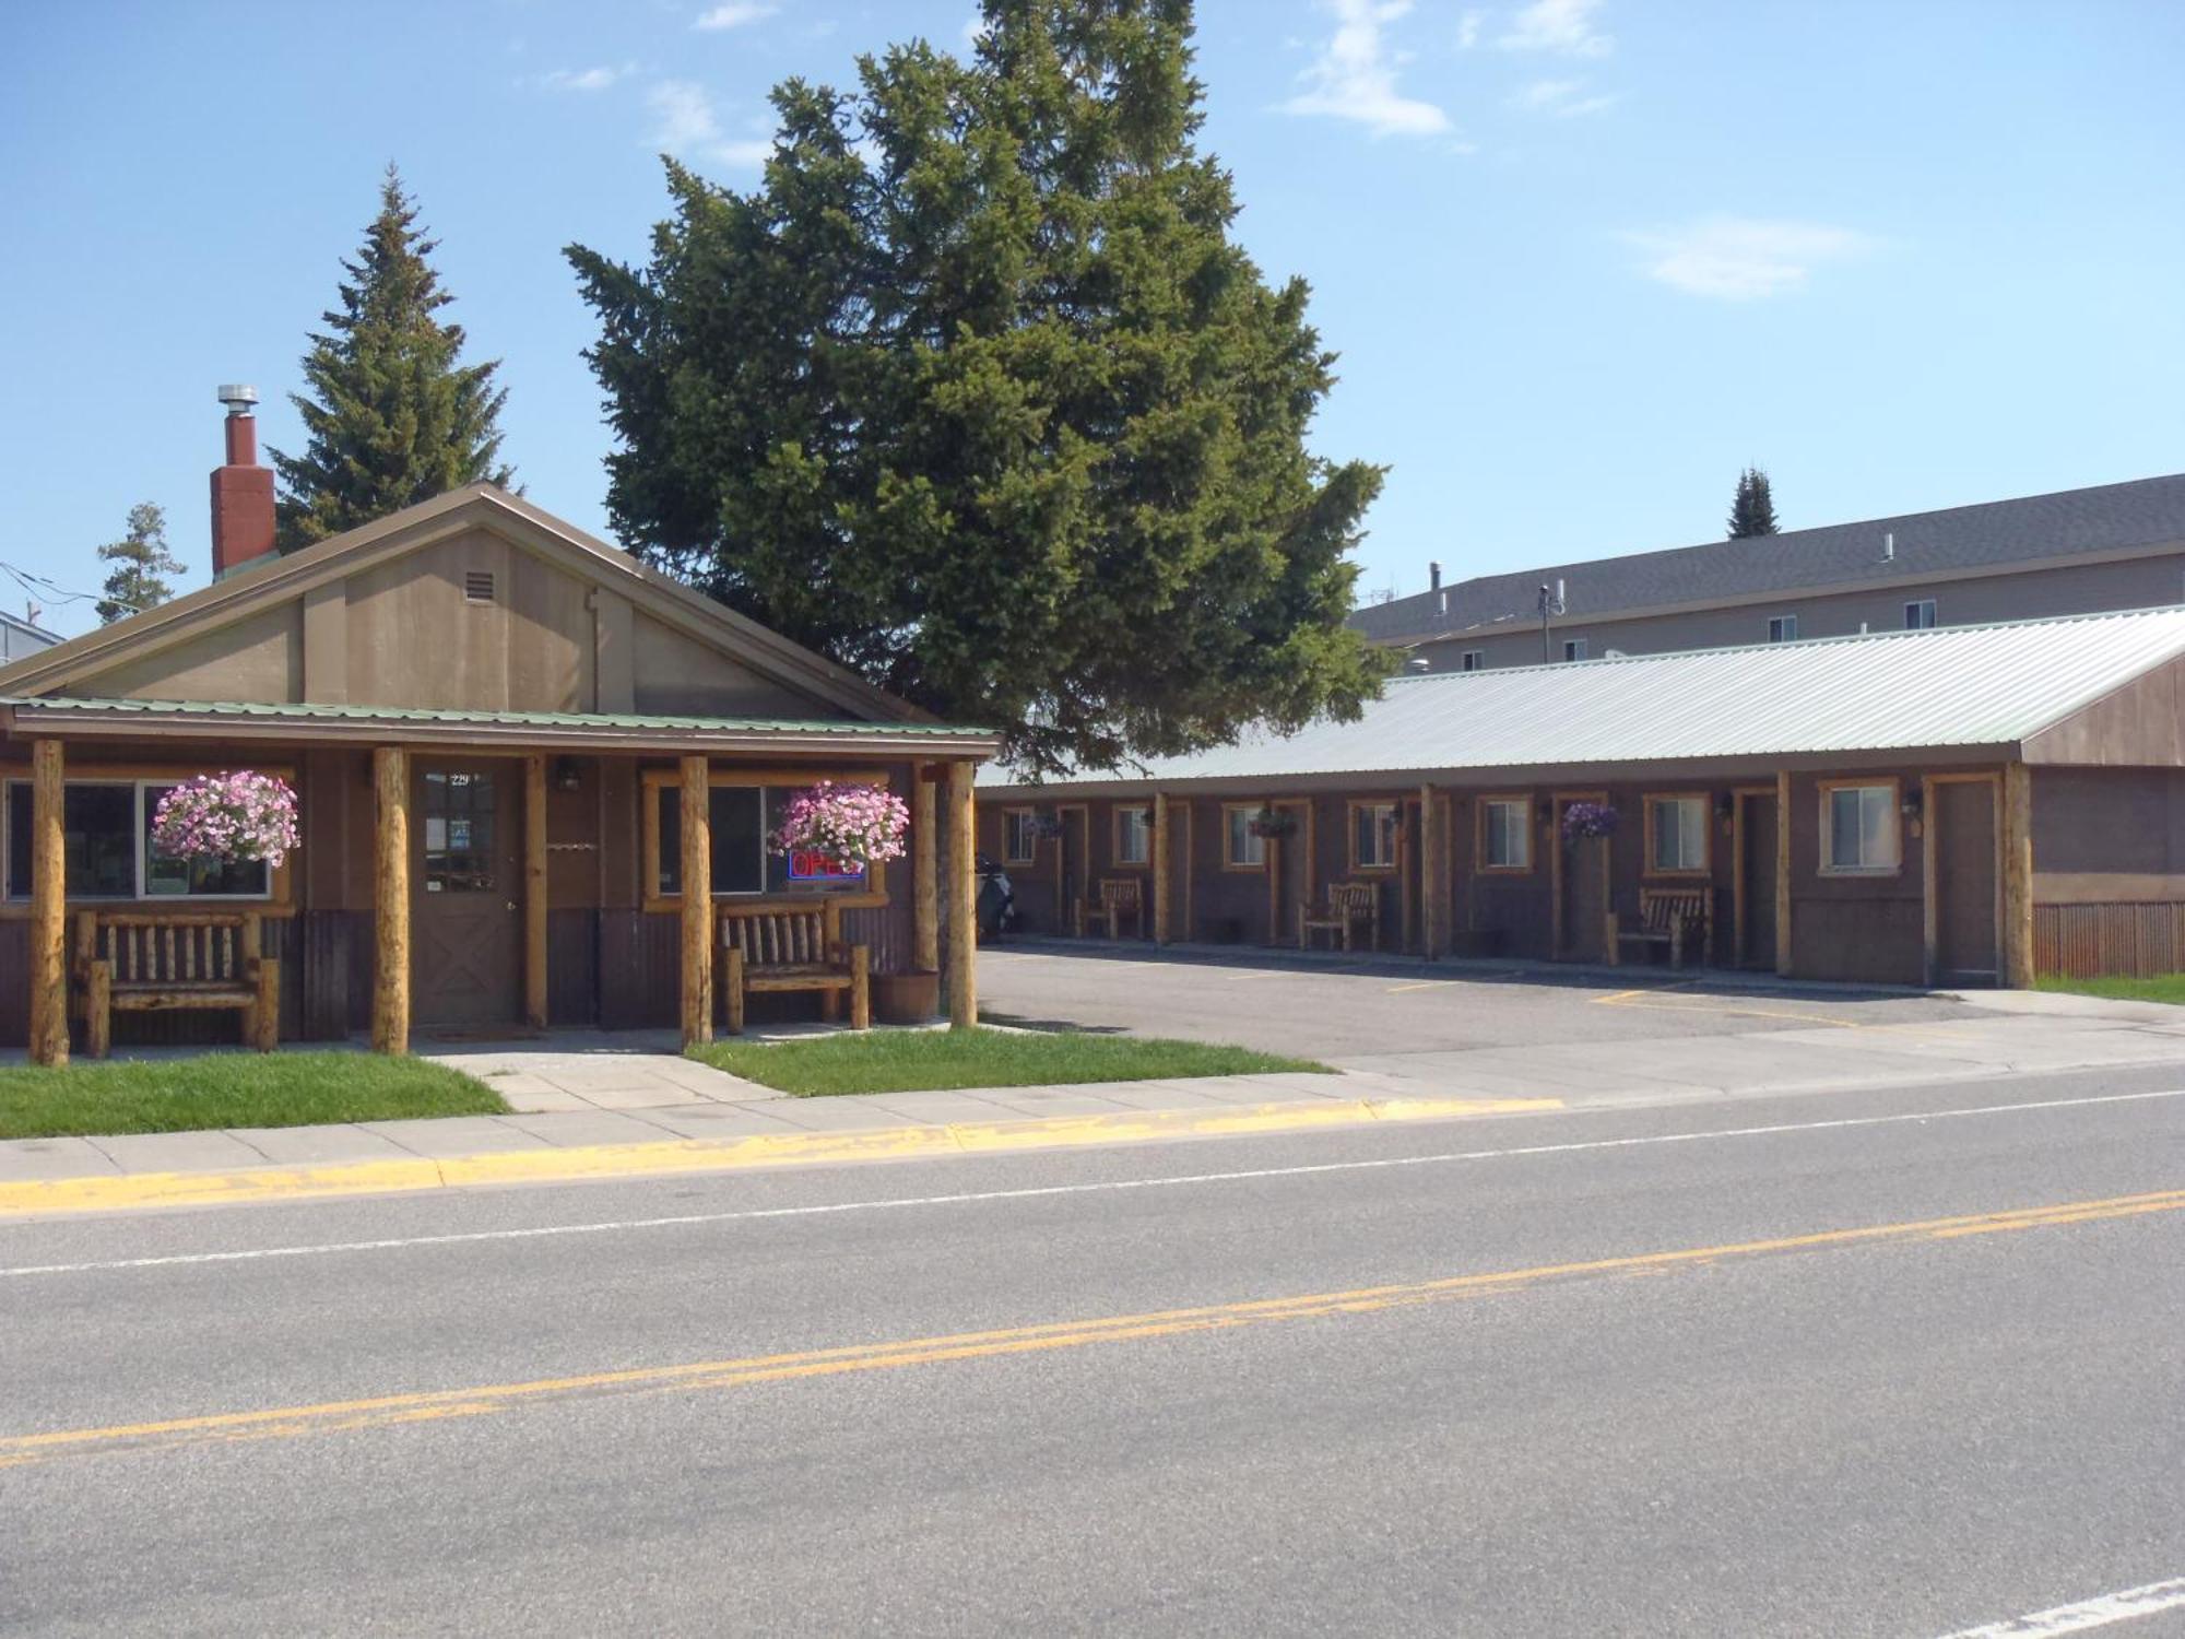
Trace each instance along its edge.
{"label": "green grass patch left of the office's concrete walkway", "polygon": [[0,1069],[0,1139],[297,1128],[409,1115],[505,1115],[483,1082],[380,1053],[205,1053]]}

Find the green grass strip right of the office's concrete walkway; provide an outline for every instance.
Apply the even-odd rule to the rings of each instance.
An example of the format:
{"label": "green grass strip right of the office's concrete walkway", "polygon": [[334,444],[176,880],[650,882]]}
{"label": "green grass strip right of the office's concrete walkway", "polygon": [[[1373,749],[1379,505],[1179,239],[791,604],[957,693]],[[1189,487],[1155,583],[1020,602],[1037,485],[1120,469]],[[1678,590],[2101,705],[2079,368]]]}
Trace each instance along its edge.
{"label": "green grass strip right of the office's concrete walkway", "polygon": [[690,1058],[798,1097],[1326,1071],[1326,1064],[1256,1053],[1250,1047],[1003,1029],[870,1029],[787,1042],[719,1040],[693,1047]]}

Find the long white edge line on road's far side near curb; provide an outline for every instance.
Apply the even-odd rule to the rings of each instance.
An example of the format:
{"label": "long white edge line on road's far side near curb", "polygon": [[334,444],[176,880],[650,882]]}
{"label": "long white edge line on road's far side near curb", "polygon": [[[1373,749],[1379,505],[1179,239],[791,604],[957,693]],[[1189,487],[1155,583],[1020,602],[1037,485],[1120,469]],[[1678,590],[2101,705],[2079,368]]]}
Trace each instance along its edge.
{"label": "long white edge line on road's far side near curb", "polygon": [[[826,1206],[752,1206],[736,1213],[680,1213],[675,1217],[623,1217],[603,1224],[540,1224],[533,1228],[465,1230],[459,1235],[404,1235],[380,1241],[326,1241],[319,1246],[260,1246],[236,1252],[170,1252],[166,1257],[109,1259],[98,1263],[26,1263],[0,1267],[0,1278],[33,1274],[92,1274],[98,1270],[166,1270],[186,1263],[253,1263],[258,1259],[330,1257],[334,1252],[391,1252],[411,1246],[465,1246],[472,1241],[540,1241],[557,1235],[621,1235],[647,1228],[690,1228],[693,1224],[747,1224],[769,1217],[828,1217],[832,1213],[889,1213],[911,1206],[975,1206],[999,1200],[1044,1200],[1053,1195],[1103,1195],[1125,1189],[1182,1189],[1189,1184],[1243,1184],[1261,1178],[1313,1178],[1337,1171],[1381,1171],[1385,1167],[1446,1167],[1468,1160],[1516,1160],[1525,1156],[1573,1156],[1591,1149],[1647,1149],[1669,1143],[1706,1143],[1713,1139],[1768,1139],[1785,1132],[1842,1132],[1846,1128],[1888,1128],[1905,1121],[1956,1121],[1984,1115],[2021,1115],[2025,1110],[2076,1110],[2098,1104],[2146,1104],[2148,1099],[2185,1097],[2185,1086],[2161,1093],[2102,1093],[2084,1099],[2039,1099],[2034,1104],[1986,1104],[1971,1110],[1905,1110],[1901,1115],[1846,1115],[1833,1121],[1779,1121],[1765,1128],[1709,1128],[1702,1132],[1656,1132],[1641,1139],[1578,1139],[1571,1143],[1530,1143],[1508,1149],[1449,1149],[1433,1156],[1381,1156],[1374,1160],[1315,1160],[1300,1167],[1252,1167],[1248,1171],[1197,1171],[1176,1178],[1114,1178],[1095,1184],[1038,1184],[1027,1189],[977,1189],[957,1195],[898,1195],[887,1200],[850,1200]],[[1569,1110],[1567,1115],[1584,1115]]]}

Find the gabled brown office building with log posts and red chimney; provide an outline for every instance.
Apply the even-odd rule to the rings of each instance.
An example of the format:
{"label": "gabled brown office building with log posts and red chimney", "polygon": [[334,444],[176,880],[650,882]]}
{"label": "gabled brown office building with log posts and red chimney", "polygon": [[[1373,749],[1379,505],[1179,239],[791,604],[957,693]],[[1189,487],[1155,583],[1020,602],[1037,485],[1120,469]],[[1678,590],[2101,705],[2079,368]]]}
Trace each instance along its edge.
{"label": "gabled brown office building with log posts and red chimney", "polygon": [[[247,404],[212,520],[212,586],[0,667],[0,1045],[234,1042],[238,1012],[262,1047],[688,1042],[741,1018],[736,972],[754,1016],[977,1016],[992,734],[492,485],[277,555]],[[302,846],[157,857],[160,795],[234,769],[295,789]],[[771,850],[817,780],[902,795],[909,857]]]}

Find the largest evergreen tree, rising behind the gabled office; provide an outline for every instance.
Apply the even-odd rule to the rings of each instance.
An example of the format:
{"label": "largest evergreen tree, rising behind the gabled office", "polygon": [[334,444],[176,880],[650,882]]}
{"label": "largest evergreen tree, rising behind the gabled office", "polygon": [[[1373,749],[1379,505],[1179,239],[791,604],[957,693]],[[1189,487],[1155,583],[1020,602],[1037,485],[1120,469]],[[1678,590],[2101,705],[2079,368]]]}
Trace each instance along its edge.
{"label": "largest evergreen tree, rising behind the gabled office", "polygon": [[1304,444],[1307,286],[1230,240],[1191,0],[985,0],[970,61],[787,81],[765,181],[669,162],[642,269],[572,245],[634,551],[1034,771],[1355,715],[1381,470]]}

